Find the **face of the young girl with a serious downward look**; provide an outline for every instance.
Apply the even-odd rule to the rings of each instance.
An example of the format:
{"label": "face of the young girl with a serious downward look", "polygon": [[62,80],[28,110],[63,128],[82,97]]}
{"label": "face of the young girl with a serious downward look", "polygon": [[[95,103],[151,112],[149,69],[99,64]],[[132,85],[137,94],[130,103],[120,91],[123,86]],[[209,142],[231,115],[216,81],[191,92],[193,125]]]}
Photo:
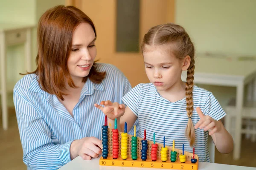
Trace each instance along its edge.
{"label": "face of the young girl with a serious downward look", "polygon": [[163,92],[182,82],[181,73],[190,64],[189,56],[178,59],[167,49],[167,45],[145,45],[145,51],[143,51],[148,79],[158,91]]}

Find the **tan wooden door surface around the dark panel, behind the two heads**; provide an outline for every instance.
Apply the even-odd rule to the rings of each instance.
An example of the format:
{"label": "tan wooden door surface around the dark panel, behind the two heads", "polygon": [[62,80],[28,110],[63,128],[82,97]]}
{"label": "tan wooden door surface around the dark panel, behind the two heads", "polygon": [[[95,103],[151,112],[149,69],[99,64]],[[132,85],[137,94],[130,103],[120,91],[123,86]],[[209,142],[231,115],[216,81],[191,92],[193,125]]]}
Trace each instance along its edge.
{"label": "tan wooden door surface around the dark panel, behind the two heads", "polygon": [[[174,22],[174,0],[140,0],[140,42],[152,26]],[[97,57],[116,65],[131,85],[148,82],[141,53],[116,53],[116,0],[82,0],[79,7],[94,22]]]}

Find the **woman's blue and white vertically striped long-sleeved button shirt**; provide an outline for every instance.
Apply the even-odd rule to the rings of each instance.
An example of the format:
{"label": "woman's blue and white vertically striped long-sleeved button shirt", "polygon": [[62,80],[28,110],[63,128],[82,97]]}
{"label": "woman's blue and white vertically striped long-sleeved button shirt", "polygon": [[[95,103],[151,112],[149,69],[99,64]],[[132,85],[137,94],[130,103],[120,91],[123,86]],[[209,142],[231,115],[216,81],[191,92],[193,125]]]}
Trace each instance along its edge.
{"label": "woman's blue and white vertically striped long-sleeved button shirt", "polygon": [[40,88],[35,74],[17,82],[13,98],[23,161],[28,167],[58,169],[71,161],[73,140],[88,136],[101,139],[105,116],[93,104],[102,100],[122,103],[122,96],[131,90],[131,85],[113,65],[97,63],[97,68],[106,71],[106,77],[100,84],[87,80],[73,109],[73,117],[57,96]]}

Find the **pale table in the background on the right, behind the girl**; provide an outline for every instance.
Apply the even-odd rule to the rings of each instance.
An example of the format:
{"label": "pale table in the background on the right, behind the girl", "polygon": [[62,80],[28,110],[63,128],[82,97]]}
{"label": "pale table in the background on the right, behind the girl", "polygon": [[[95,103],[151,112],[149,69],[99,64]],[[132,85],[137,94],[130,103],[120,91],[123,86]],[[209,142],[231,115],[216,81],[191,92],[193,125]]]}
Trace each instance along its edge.
{"label": "pale table in the background on the right, behind the girl", "polygon": [[[236,135],[233,158],[237,160],[240,158],[241,148],[241,114],[244,102],[244,86],[256,82],[256,60],[198,56],[195,59],[194,83],[236,87]],[[182,79],[186,81],[186,73],[183,73]],[[256,98],[255,87],[253,93]]]}

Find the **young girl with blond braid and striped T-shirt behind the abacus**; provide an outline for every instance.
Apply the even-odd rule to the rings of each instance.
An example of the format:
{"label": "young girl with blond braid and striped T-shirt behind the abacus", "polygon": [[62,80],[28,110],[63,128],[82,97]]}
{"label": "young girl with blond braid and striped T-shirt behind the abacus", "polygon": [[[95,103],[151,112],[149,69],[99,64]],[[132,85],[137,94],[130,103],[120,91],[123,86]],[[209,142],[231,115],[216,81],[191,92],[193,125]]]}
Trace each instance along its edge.
{"label": "young girl with blond braid and striped T-shirt behind the abacus", "polygon": [[[119,130],[128,130],[139,119],[140,132],[147,139],[192,153],[195,147],[199,161],[209,162],[208,132],[221,153],[233,150],[233,139],[221,123],[226,113],[211,92],[193,85],[195,49],[183,27],[168,23],[154,26],[145,34],[141,46],[145,71],[151,83],[139,84],[128,92],[119,105],[110,101],[95,104],[109,119],[118,118]],[[181,80],[187,70],[186,82]],[[196,109],[195,109],[196,108]],[[122,117],[121,117],[122,116]],[[121,118],[120,118],[121,117]],[[111,123],[113,125],[113,122]]]}

